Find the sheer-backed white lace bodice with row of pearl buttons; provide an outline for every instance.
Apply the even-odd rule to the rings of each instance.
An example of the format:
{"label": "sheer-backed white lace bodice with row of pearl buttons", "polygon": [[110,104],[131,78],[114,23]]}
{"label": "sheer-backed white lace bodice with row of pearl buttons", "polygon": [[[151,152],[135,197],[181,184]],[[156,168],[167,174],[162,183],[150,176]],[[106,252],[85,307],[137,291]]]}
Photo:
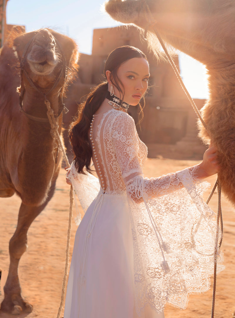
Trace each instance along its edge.
{"label": "sheer-backed white lace bodice with row of pearl buttons", "polygon": [[[134,120],[128,114],[111,109],[96,115],[94,126],[100,116],[102,118],[93,140],[106,181],[105,192],[120,194],[126,192],[123,177],[131,174],[142,175],[147,147],[139,139]],[[95,158],[93,162],[95,163]]]}

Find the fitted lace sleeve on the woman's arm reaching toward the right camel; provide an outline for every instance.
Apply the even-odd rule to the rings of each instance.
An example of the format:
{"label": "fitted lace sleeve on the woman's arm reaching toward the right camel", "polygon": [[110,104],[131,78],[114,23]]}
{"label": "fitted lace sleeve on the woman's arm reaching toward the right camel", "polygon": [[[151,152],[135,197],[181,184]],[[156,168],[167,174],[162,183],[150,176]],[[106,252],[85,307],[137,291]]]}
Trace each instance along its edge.
{"label": "fitted lace sleeve on the woman's arm reaching toward the right camel", "polygon": [[149,200],[179,190],[184,186],[184,179],[187,179],[187,182],[190,180],[190,183],[196,182],[196,167],[158,178],[144,178],[138,160],[140,140],[134,120],[130,116],[121,114],[115,121],[111,133],[127,193],[135,202],[143,202],[143,197]]}

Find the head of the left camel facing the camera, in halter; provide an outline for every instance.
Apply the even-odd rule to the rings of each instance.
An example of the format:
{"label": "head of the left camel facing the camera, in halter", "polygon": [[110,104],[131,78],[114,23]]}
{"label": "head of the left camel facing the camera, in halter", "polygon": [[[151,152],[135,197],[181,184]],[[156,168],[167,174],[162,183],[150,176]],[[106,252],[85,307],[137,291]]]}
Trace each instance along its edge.
{"label": "head of the left camel facing the camera, in halter", "polygon": [[75,42],[69,37],[50,29],[40,29],[18,35],[11,42],[21,68],[36,86],[49,88],[63,64],[68,66],[67,79],[72,79],[78,53]]}

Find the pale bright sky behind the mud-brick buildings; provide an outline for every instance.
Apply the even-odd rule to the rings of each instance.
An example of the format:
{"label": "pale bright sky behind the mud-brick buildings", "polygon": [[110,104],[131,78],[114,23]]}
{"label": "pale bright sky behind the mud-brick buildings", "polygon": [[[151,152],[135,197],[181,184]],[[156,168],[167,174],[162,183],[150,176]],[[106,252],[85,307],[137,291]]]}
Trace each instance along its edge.
{"label": "pale bright sky behind the mud-brick buildings", "polygon": [[[121,25],[101,9],[102,0],[9,0],[7,24],[26,26],[26,32],[44,27],[73,38],[81,53],[91,54],[93,29]],[[208,98],[205,67],[179,54],[181,77],[193,98]]]}

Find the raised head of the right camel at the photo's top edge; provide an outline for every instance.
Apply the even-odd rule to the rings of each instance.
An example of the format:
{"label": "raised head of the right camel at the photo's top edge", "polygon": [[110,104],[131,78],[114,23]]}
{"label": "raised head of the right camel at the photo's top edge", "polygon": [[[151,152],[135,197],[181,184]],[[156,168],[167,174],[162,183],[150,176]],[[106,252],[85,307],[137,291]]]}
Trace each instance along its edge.
{"label": "raised head of the right camel at the photo's top edge", "polygon": [[[199,60],[208,68],[228,66],[235,53],[235,3],[231,0],[109,0],[106,12],[135,24]],[[149,44],[156,51],[158,41]]]}

